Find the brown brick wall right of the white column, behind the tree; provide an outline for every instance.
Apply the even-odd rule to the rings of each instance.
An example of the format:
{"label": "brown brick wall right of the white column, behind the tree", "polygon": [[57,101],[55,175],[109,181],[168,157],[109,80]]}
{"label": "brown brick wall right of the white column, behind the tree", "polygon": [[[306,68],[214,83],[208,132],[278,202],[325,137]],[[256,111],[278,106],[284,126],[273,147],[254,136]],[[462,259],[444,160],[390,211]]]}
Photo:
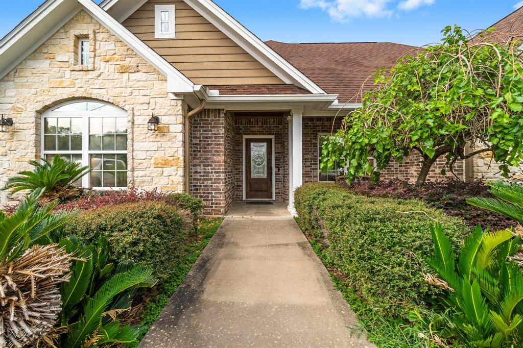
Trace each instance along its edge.
{"label": "brown brick wall right of the white column, behind the tree", "polygon": [[[331,133],[333,130],[334,118],[332,117],[305,117],[303,118],[303,183],[315,182],[318,180],[318,134]],[[334,132],[339,129],[342,118],[334,122]],[[412,153],[405,158],[402,163],[392,161],[389,166],[381,170],[381,180],[401,179],[415,181],[419,169],[421,157],[417,153]],[[447,175],[441,175],[441,169],[445,167],[445,158],[440,158],[430,170],[428,180],[446,180],[454,178],[452,173],[447,170]],[[461,180],[464,180],[464,163],[458,161],[454,165],[454,172]]]}

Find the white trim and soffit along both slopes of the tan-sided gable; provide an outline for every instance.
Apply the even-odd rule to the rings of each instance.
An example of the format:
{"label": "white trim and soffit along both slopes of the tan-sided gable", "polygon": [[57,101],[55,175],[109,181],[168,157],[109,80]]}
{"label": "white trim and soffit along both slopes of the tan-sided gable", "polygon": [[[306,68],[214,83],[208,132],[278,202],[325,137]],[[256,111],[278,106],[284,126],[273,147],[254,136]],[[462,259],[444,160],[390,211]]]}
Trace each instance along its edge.
{"label": "white trim and soffit along both slopes of the tan-sided gable", "polygon": [[[104,0],[100,6],[122,22],[146,1],[147,0]],[[283,82],[297,85],[309,90],[313,94],[326,94],[326,92],[312,82],[311,79],[303,75],[297,68],[283,59],[278,53],[268,47],[265,42],[261,41],[211,0],[184,1],[283,80]]]}

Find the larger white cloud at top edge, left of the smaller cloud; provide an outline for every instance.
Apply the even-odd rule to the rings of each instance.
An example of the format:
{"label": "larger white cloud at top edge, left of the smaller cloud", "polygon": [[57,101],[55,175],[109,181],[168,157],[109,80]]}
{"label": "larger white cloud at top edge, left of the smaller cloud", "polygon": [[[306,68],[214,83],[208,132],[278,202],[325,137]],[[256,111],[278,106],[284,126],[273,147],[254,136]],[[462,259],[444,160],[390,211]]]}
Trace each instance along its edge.
{"label": "larger white cloud at top edge, left of the smaller cloud", "polygon": [[300,8],[320,8],[339,22],[354,17],[390,17],[394,13],[388,8],[391,0],[301,0]]}

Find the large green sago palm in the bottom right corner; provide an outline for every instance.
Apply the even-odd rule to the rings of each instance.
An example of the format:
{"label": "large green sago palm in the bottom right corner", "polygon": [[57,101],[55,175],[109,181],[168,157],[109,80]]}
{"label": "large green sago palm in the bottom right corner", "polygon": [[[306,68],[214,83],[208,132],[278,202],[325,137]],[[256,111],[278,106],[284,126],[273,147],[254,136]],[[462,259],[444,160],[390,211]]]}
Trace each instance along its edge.
{"label": "large green sago palm in the bottom right corner", "polygon": [[429,264],[437,277],[428,283],[449,291],[451,332],[457,343],[476,347],[523,344],[523,273],[510,257],[521,249],[511,230],[482,231],[465,239],[456,260],[442,227],[431,229],[435,255]]}

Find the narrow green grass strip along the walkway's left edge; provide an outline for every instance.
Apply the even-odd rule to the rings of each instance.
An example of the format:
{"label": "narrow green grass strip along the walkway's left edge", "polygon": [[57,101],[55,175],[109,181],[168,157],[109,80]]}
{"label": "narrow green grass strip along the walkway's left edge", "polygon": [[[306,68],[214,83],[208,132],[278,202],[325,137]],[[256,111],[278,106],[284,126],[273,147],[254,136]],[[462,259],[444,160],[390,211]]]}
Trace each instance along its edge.
{"label": "narrow green grass strip along the walkway's left edge", "polygon": [[[158,288],[158,294],[152,297],[149,302],[145,304],[145,309],[142,312],[142,321],[140,325],[142,326],[140,339],[143,338],[145,333],[149,331],[149,328],[152,326],[154,321],[160,316],[160,312],[164,309],[169,301],[169,298],[176,292],[176,289],[185,279],[187,273],[189,273],[192,265],[198,260],[203,249],[207,246],[211,237],[220,227],[223,219],[215,218],[209,219],[201,223],[200,228],[198,229],[198,234],[201,235],[201,240],[191,243],[186,247],[185,257],[180,259],[176,264],[176,268],[173,270],[172,275],[170,275]],[[138,345],[138,342],[129,345],[130,347],[135,347]]]}

